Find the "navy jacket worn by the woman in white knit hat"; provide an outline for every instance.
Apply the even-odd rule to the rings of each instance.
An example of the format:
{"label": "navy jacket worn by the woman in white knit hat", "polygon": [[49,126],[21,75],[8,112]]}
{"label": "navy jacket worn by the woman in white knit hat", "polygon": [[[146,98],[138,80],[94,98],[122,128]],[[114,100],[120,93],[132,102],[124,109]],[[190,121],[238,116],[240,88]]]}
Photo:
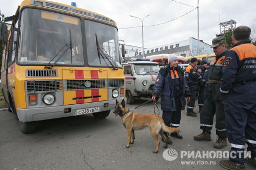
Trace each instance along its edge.
{"label": "navy jacket worn by the woman in white knit hat", "polygon": [[[178,72],[179,80],[180,80],[180,100],[181,100],[181,109],[185,109],[186,100],[185,97],[190,96],[190,92],[188,86],[186,84],[184,73],[180,66],[175,67]],[[176,104],[175,104],[175,96],[174,96],[174,86],[171,79],[171,72],[170,66],[167,65],[164,68],[161,68],[155,85],[154,90],[152,92],[152,96],[156,96],[159,98],[161,95],[161,110],[166,111],[176,111]]]}

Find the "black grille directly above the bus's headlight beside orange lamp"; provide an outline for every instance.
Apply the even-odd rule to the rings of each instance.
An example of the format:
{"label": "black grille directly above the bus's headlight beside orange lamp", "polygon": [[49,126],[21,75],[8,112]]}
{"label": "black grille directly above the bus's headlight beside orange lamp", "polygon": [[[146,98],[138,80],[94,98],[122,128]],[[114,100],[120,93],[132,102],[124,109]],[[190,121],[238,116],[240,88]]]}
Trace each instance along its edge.
{"label": "black grille directly above the bus's headlight beside orange lamp", "polygon": [[27,92],[62,90],[62,80],[29,80],[25,85]]}

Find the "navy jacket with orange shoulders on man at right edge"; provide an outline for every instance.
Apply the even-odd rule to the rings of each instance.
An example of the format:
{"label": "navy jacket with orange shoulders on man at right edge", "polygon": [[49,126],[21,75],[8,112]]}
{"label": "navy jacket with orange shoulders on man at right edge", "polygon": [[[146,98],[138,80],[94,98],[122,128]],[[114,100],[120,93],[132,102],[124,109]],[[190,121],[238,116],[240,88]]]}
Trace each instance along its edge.
{"label": "navy jacket with orange shoulders on man at right edge", "polygon": [[256,83],[256,46],[250,40],[236,43],[227,52],[220,92],[239,91],[240,85],[247,82]]}

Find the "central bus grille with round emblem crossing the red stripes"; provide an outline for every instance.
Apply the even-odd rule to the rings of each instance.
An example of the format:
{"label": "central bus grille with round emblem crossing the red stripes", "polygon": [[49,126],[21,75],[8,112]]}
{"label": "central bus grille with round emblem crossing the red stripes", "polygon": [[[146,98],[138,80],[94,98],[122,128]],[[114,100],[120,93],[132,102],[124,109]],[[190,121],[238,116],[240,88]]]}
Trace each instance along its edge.
{"label": "central bus grille with round emblem crossing the red stripes", "polygon": [[[89,87],[85,86],[85,83],[87,81],[89,81],[91,84]],[[100,88],[107,88],[105,79],[64,80],[64,90],[84,90]]]}

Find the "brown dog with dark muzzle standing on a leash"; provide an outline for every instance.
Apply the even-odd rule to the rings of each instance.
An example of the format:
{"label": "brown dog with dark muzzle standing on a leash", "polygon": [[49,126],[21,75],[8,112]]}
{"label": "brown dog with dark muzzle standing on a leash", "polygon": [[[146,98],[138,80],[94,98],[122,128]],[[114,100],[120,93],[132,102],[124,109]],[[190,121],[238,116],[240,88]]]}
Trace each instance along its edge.
{"label": "brown dog with dark muzzle standing on a leash", "polygon": [[160,142],[158,139],[158,133],[164,139],[164,148],[167,148],[168,144],[164,132],[180,132],[180,129],[178,128],[170,128],[166,126],[164,124],[164,120],[160,116],[153,114],[138,114],[129,111],[125,106],[124,100],[122,100],[121,104],[116,100],[116,108],[113,113],[116,116],[119,115],[121,117],[123,125],[126,128],[128,140],[125,148],[128,148],[130,143],[133,144],[135,139],[134,130],[143,129],[147,126],[150,128],[151,135],[156,141],[156,150],[154,150],[153,153],[157,153],[159,149]]}

